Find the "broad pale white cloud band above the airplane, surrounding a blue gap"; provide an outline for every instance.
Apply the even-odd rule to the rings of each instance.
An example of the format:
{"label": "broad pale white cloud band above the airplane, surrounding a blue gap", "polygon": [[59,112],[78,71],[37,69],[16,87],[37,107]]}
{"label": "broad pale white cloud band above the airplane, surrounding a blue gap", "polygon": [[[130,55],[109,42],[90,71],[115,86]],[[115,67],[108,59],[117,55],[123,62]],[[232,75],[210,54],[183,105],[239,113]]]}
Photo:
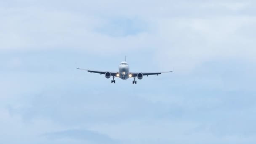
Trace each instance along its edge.
{"label": "broad pale white cloud band above the airplane, surrounding a blue gap", "polygon": [[[239,14],[252,4],[250,1],[177,3],[163,0],[151,3],[112,0],[104,3],[78,0],[76,4],[62,2],[63,8],[59,3],[57,6],[57,2],[49,7],[45,2],[34,1],[27,1],[29,6],[4,7],[3,27],[0,29],[1,51],[64,48],[112,55],[153,48],[165,58],[160,59],[163,66],[166,65],[166,58],[170,58],[167,63],[172,62],[171,67],[182,70],[192,70],[202,61],[216,59],[255,61],[256,36],[249,30],[243,32],[243,29],[255,29],[256,18]],[[57,7],[53,8],[53,5]],[[208,10],[209,5],[211,9]],[[85,8],[82,10],[81,6]],[[219,9],[223,7],[227,9]],[[112,37],[111,31],[108,32],[110,35],[95,31],[106,25],[106,19],[115,17],[137,17],[145,21],[147,29],[126,37]],[[109,29],[115,30],[113,27]]]}

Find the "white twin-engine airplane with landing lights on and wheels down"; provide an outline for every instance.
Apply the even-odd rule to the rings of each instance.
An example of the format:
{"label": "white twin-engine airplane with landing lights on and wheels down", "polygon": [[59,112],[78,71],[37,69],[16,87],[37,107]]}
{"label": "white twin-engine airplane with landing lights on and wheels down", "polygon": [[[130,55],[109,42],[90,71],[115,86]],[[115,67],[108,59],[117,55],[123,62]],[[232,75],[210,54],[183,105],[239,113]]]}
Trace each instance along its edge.
{"label": "white twin-engine airplane with landing lights on and wheels down", "polygon": [[173,72],[168,71],[168,72],[130,72],[129,71],[129,65],[126,62],[126,56],[125,56],[125,61],[122,61],[119,65],[119,72],[109,72],[109,71],[95,71],[95,70],[90,70],[90,69],[81,69],[76,67],[77,69],[80,70],[85,70],[91,73],[98,73],[98,74],[103,74],[105,75],[106,78],[110,78],[111,76],[113,77],[113,80],[111,80],[111,83],[115,83],[115,77],[119,77],[122,80],[127,80],[128,78],[133,77],[133,84],[137,84],[136,77],[141,80],[143,76],[149,76],[149,75],[160,75],[162,73],[168,73],[168,72]]}

